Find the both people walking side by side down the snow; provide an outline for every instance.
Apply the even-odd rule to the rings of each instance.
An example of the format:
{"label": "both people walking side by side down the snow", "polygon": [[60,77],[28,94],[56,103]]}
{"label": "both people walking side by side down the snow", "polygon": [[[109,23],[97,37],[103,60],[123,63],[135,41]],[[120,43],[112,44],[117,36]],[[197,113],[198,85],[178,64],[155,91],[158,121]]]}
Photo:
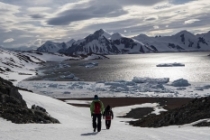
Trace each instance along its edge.
{"label": "both people walking side by side down the snow", "polygon": [[[105,118],[105,124],[106,128],[109,129],[111,125],[111,119],[113,119],[114,115],[111,110],[111,107],[108,105],[106,109],[104,110],[104,104],[102,101],[99,100],[98,96],[94,96],[94,100],[90,104],[90,112],[92,117],[92,125],[93,125],[93,131],[100,132],[101,131],[101,117],[103,115],[103,118]],[[96,123],[97,121],[97,123]]]}

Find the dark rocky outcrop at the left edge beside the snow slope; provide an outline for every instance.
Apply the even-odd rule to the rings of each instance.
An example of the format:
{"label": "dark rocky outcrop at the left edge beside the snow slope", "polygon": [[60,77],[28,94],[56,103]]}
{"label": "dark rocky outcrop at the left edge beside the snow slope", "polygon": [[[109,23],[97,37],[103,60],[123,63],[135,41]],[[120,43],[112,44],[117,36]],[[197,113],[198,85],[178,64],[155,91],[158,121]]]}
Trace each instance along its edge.
{"label": "dark rocky outcrop at the left edge beside the snow slope", "polygon": [[[41,107],[39,107],[41,108]],[[0,117],[13,123],[59,123],[45,109],[29,109],[18,89],[0,77]]]}

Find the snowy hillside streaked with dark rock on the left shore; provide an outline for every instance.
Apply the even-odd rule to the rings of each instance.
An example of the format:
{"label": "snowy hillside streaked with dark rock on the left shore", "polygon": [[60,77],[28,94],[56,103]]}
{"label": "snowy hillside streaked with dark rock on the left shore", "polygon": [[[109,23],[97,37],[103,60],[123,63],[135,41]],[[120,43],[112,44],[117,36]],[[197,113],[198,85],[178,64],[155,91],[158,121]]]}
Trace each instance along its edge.
{"label": "snowy hillside streaked with dark rock on the left shore", "polygon": [[46,61],[73,59],[61,54],[32,52],[14,52],[0,48],[0,76],[6,80],[18,81],[34,76],[36,68]]}

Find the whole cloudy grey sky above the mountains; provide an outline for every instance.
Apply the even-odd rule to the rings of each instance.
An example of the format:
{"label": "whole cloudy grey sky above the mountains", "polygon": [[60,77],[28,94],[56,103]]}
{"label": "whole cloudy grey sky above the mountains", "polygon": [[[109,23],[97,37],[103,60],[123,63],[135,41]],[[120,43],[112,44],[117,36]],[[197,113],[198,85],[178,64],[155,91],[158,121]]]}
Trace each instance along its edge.
{"label": "whole cloudy grey sky above the mountains", "polygon": [[98,29],[125,36],[210,31],[210,0],[0,0],[0,46],[81,39]]}

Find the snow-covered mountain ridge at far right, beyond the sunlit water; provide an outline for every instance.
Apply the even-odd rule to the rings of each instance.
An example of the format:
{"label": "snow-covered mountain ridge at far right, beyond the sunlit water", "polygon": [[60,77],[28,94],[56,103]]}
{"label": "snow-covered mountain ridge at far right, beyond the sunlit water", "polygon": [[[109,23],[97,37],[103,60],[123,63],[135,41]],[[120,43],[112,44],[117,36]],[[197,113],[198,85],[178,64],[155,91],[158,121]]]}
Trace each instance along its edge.
{"label": "snow-covered mountain ridge at far right, beyond the sunlit water", "polygon": [[133,38],[153,47],[157,52],[210,50],[210,44],[206,42],[205,38],[188,31],[181,31],[175,35],[163,37],[148,37],[140,34]]}

